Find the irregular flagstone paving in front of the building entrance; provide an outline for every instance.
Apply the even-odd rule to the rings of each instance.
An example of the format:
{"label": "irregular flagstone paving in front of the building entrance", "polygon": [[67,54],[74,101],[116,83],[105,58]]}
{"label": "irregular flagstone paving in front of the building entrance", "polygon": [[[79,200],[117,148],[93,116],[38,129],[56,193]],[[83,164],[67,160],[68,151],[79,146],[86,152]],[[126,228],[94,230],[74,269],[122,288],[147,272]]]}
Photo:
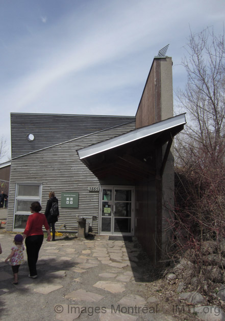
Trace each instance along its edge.
{"label": "irregular flagstone paving in front of the building entrance", "polygon": [[[20,266],[18,285],[13,285],[11,266],[4,262],[13,238],[12,233],[0,233],[1,320],[170,320],[162,318],[153,297],[143,297],[147,280],[136,240],[113,241],[107,236],[44,239],[38,278],[28,278],[25,262]],[[27,259],[26,251],[24,257]]]}

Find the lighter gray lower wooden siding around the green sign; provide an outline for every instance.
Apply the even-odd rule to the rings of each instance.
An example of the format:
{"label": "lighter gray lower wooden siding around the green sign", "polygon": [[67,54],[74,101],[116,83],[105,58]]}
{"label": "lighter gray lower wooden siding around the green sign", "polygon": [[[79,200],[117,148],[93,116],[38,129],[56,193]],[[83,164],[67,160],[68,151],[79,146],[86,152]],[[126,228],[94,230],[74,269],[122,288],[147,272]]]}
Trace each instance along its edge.
{"label": "lighter gray lower wooden siding around the green sign", "polygon": [[[77,150],[134,128],[133,122],[12,159],[7,230],[13,228],[16,183],[35,182],[42,184],[42,212],[45,210],[49,191],[54,191],[59,199],[60,218],[56,223],[56,230],[77,231],[78,215],[89,218],[95,216],[97,220],[92,221],[92,229],[97,233],[99,193],[88,192],[88,186],[99,185],[99,182],[80,161]],[[79,208],[61,208],[61,192],[78,192]]]}

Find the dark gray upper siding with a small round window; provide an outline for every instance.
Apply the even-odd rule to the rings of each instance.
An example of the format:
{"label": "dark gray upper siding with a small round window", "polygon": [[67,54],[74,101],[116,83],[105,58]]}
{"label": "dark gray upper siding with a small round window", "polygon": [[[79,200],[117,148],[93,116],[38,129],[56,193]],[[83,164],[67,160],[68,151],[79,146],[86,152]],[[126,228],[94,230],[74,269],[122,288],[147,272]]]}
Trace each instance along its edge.
{"label": "dark gray upper siding with a small round window", "polygon": [[[133,116],[12,113],[12,158],[132,121]],[[35,137],[32,142],[29,133]]]}

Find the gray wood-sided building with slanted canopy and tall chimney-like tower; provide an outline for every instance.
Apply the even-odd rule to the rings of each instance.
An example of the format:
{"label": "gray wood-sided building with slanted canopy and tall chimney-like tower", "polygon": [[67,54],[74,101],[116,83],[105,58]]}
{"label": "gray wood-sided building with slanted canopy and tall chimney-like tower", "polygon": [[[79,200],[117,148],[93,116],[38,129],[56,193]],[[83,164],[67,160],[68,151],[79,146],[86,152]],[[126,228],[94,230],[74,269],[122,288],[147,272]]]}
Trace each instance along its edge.
{"label": "gray wood-sided building with slanted canopy and tall chimney-like tower", "polygon": [[7,229],[22,231],[31,202],[59,199],[58,231],[85,217],[95,233],[135,235],[153,262],[165,252],[173,206],[172,60],[156,57],[135,117],[11,114]]}

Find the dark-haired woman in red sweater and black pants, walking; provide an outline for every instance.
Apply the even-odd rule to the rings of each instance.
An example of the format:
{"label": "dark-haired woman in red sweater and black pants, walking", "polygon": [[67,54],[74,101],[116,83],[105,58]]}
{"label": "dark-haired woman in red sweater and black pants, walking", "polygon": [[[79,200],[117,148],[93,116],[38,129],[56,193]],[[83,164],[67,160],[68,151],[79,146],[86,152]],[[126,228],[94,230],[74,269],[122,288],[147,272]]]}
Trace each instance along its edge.
{"label": "dark-haired woman in red sweater and black pants, walking", "polygon": [[39,202],[33,202],[31,204],[32,215],[29,216],[26,228],[22,234],[23,239],[26,237],[25,244],[28,255],[28,266],[30,270],[29,277],[37,278],[36,263],[38,260],[38,253],[41,248],[44,233],[42,226],[44,225],[47,231],[47,240],[51,240],[50,229],[47,224],[47,220],[44,214],[40,213],[41,204]]}

